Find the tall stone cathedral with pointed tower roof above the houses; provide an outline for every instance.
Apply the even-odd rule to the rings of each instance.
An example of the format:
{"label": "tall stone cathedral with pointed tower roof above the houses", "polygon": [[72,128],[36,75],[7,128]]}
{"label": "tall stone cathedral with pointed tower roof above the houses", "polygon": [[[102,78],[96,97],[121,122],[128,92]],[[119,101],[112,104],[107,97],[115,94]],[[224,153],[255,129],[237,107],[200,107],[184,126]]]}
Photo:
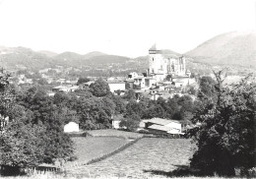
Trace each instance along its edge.
{"label": "tall stone cathedral with pointed tower roof above the houses", "polygon": [[157,82],[163,81],[167,75],[171,77],[188,77],[186,71],[186,59],[184,56],[165,54],[158,50],[156,45],[149,49],[149,69],[147,75],[153,77]]}

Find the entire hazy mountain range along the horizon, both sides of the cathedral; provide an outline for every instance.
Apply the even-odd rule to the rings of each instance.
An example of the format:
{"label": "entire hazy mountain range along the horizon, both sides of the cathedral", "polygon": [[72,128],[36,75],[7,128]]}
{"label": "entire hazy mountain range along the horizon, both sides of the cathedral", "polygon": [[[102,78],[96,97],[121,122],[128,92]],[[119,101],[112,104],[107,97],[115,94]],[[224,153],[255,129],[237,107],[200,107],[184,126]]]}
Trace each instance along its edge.
{"label": "entire hazy mountain range along the horizon, both sides of the cathedral", "polygon": [[[161,49],[162,54],[180,53],[170,49]],[[182,54],[189,61],[209,65],[256,67],[256,32],[230,31],[214,36],[199,44],[196,48]],[[35,70],[54,65],[70,67],[102,66],[106,64],[137,63],[147,68],[149,56],[129,58],[119,55],[110,55],[100,51],[79,54],[71,51],[55,53],[47,50],[33,51],[27,47],[0,46],[0,66],[13,68],[22,65]],[[4,65],[3,65],[4,64]]]}

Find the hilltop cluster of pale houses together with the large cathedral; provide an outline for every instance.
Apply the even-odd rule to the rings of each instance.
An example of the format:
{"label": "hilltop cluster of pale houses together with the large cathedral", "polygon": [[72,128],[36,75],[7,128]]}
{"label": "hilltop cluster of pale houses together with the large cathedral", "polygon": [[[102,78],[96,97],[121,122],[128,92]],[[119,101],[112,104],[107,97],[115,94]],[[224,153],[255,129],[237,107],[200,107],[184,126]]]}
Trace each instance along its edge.
{"label": "hilltop cluster of pale houses together with the large cathedral", "polygon": [[[157,100],[181,94],[187,86],[195,86],[191,72],[186,69],[186,58],[173,54],[164,54],[154,45],[149,50],[149,68],[147,73],[132,72],[126,79],[111,78],[107,80],[111,92],[135,89],[137,99],[146,96]],[[118,93],[119,94],[119,93]]]}

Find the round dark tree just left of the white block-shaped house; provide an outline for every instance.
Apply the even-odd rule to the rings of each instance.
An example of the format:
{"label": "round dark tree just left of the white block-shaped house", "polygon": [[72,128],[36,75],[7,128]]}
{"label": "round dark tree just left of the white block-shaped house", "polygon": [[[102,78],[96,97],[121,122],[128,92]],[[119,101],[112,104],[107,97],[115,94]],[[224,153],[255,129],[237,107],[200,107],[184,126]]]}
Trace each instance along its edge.
{"label": "round dark tree just left of the white block-shaped house", "polygon": [[90,85],[90,90],[97,97],[105,96],[107,93],[110,92],[107,82],[105,82],[101,78],[97,79],[94,84]]}

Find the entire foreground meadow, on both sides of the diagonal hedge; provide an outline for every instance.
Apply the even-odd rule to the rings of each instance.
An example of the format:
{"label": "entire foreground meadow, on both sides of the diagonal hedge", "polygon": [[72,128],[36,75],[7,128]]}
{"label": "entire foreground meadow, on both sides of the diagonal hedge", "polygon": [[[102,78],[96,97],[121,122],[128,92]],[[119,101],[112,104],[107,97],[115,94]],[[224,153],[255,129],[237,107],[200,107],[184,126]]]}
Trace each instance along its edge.
{"label": "entire foreground meadow, on both sides of the diagonal hedge", "polygon": [[[176,177],[172,171],[186,167],[193,154],[194,146],[186,139],[141,138],[142,134],[116,130],[90,131],[95,137],[73,137],[75,153],[78,159],[66,164],[61,174],[44,173],[31,176],[4,177],[5,179],[227,179],[224,177]],[[98,162],[87,164],[93,158],[109,153],[139,140],[109,155]],[[74,165],[74,163],[80,163]]]}

